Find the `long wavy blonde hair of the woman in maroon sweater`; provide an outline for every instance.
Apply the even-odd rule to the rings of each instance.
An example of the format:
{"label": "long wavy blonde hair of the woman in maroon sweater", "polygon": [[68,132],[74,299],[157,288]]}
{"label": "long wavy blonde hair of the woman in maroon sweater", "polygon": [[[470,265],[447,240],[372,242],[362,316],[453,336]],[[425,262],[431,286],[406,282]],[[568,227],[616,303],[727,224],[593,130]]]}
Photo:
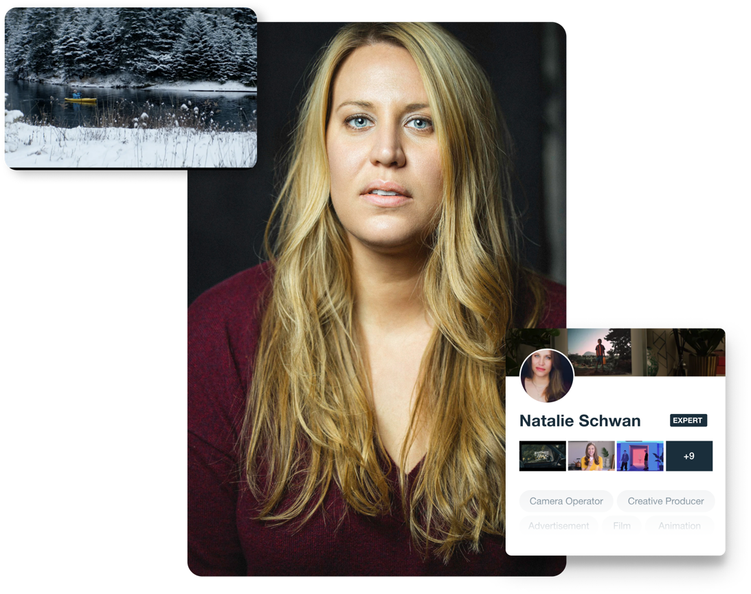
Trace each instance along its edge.
{"label": "long wavy blonde hair of the woman in maroon sweater", "polygon": [[265,235],[274,279],[243,454],[261,520],[306,522],[332,483],[357,513],[391,508],[382,468],[389,457],[354,326],[351,253],[330,204],[325,139],[339,66],[357,47],[376,43],[404,47],[415,59],[442,147],[444,195],[423,289],[436,331],[421,362],[400,467],[421,419],[428,420],[430,441],[409,489],[400,473],[400,490],[413,541],[448,562],[457,546],[477,551],[483,533],[503,534],[503,341],[515,289],[526,283],[531,295],[528,326],[540,315],[542,295],[538,282],[520,274],[514,224],[505,220],[510,144],[490,83],[463,45],[435,24],[353,23],[315,62]]}

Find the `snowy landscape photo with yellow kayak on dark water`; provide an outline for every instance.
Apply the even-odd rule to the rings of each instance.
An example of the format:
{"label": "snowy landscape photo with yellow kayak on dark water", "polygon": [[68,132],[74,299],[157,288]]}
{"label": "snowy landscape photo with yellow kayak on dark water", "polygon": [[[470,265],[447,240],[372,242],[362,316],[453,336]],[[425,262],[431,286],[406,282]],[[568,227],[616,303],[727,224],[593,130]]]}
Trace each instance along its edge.
{"label": "snowy landscape photo with yellow kayak on dark water", "polygon": [[244,6],[8,9],[5,165],[252,167],[256,25]]}

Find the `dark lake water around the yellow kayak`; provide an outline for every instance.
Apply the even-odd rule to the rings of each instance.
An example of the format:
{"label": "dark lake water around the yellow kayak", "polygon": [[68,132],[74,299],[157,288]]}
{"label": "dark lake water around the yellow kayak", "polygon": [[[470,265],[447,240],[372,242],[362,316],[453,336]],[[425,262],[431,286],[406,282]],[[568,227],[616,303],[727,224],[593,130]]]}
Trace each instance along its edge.
{"label": "dark lake water around the yellow kayak", "polygon": [[[50,117],[54,125],[62,128],[75,128],[92,125],[105,114],[120,114],[118,122],[131,122],[143,112],[149,117],[166,116],[169,113],[184,114],[180,106],[190,105],[189,112],[198,107],[201,114],[207,114],[217,127],[240,130],[241,126],[256,129],[257,107],[255,95],[246,92],[196,92],[166,91],[161,89],[113,89],[96,86],[75,87],[83,98],[95,97],[95,105],[66,102],[73,96],[74,86],[30,83],[25,80],[5,80],[8,98],[5,109],[23,111],[25,116],[42,119]],[[148,103],[147,103],[148,102]],[[190,104],[189,104],[190,102]],[[210,112],[213,111],[213,116]]]}

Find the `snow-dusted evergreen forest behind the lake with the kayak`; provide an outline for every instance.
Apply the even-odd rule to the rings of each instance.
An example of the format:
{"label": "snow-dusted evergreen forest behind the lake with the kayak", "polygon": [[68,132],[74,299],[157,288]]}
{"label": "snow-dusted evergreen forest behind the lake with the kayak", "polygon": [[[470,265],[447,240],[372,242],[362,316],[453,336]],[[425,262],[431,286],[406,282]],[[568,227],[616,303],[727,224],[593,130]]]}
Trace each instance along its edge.
{"label": "snow-dusted evergreen forest behind the lake with the kayak", "polygon": [[243,6],[14,7],[3,23],[5,75],[255,86],[256,23],[255,11]]}

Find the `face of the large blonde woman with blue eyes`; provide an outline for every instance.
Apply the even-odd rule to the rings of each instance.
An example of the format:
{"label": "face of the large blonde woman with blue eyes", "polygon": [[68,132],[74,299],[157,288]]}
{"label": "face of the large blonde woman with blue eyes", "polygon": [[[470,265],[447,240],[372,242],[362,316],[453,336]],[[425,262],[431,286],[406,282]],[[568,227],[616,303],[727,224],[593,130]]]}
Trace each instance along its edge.
{"label": "face of the large blonde woman with blue eyes", "polygon": [[432,113],[403,47],[359,47],[339,68],[326,150],[331,201],[351,241],[396,253],[433,230],[443,183]]}

